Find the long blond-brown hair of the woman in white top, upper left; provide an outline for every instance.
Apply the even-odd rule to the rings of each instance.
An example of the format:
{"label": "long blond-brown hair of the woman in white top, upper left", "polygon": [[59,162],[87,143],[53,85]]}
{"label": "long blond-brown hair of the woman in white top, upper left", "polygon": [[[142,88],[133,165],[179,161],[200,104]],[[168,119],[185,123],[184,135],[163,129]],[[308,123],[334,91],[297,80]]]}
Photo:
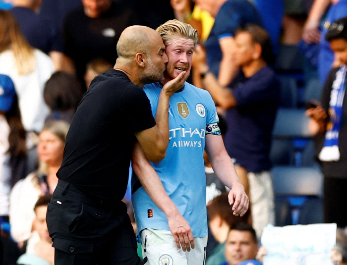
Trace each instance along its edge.
{"label": "long blond-brown hair of the woman in white top, upper left", "polygon": [[34,49],[20,31],[19,24],[13,15],[0,10],[0,53],[11,50],[14,54],[18,74],[29,74],[35,69]]}

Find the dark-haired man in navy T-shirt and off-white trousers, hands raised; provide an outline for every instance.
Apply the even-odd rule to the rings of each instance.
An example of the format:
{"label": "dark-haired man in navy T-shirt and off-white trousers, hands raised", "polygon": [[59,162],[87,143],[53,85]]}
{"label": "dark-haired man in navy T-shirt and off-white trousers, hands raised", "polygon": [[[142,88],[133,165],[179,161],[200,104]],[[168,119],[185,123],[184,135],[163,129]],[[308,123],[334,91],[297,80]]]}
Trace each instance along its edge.
{"label": "dark-haired man in navy T-shirt and off-white trousers, hands raised", "polygon": [[252,223],[260,237],[263,227],[274,224],[274,193],[269,158],[272,128],[280,98],[279,83],[268,63],[272,61],[269,35],[261,27],[247,24],[235,31],[234,63],[241,71],[230,88],[222,87],[204,63],[201,49],[195,52],[200,61],[205,88],[221,107],[226,109],[228,130],[226,149],[236,159],[240,179],[250,187]]}

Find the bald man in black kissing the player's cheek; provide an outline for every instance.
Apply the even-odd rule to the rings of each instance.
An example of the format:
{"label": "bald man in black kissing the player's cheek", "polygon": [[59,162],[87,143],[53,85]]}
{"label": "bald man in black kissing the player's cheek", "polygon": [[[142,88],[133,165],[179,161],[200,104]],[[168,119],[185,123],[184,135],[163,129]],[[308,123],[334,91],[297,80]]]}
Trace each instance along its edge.
{"label": "bald man in black kissing the player's cheek", "polygon": [[141,87],[164,80],[168,57],[158,33],[126,28],[110,71],[94,78],[67,134],[47,225],[55,265],[137,265],[137,244],[124,197],[135,142],[159,162],[169,142],[168,107],[182,72],[163,87],[156,118]]}

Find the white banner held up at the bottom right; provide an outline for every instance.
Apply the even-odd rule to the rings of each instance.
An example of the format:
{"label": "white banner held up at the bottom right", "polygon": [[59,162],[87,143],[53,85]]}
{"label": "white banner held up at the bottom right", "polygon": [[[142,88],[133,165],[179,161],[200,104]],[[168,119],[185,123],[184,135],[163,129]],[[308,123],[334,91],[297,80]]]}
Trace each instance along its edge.
{"label": "white banner held up at the bottom right", "polygon": [[261,237],[267,249],[263,265],[332,265],[336,229],[336,223],[268,225]]}

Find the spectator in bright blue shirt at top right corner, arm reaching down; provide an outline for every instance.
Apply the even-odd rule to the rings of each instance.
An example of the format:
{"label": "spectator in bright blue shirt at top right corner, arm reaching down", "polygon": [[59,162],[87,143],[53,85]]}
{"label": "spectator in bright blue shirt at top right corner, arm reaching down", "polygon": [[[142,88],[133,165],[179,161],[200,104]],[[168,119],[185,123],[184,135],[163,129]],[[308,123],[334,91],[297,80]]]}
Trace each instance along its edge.
{"label": "spectator in bright blue shirt at top right corner, arm reaching down", "polygon": [[[333,22],[347,16],[347,0],[330,0],[331,5],[323,19],[320,20],[329,5],[329,0],[315,0],[303,30],[303,39],[307,43],[320,43],[318,55],[318,75],[321,84],[325,84],[329,71],[332,67],[338,67],[341,62],[334,60],[334,52],[330,49],[325,35]],[[322,25],[322,27],[320,27]],[[321,32],[319,32],[321,30]]]}

